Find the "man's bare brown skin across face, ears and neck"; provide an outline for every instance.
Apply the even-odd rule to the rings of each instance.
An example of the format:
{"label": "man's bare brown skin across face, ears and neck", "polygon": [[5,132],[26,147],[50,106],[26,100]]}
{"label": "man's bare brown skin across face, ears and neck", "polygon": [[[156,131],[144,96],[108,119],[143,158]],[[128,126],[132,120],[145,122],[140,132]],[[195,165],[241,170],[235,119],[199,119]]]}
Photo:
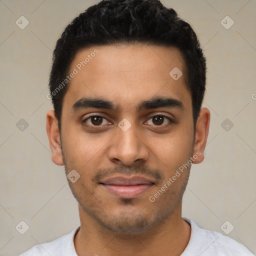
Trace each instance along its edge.
{"label": "man's bare brown skin across face, ears and neck", "polygon": [[[52,161],[64,165],[66,174],[72,169],[80,174],[74,183],[68,179],[81,223],[74,238],[76,253],[180,255],[191,231],[181,218],[190,165],[154,202],[148,198],[196,152],[200,155],[192,162],[203,160],[210,112],[201,108],[194,133],[191,95],[184,75],[178,80],[169,75],[173,67],[185,72],[177,48],[138,43],[93,46],[77,52],[70,71],[95,48],[99,52],[69,82],[63,98],[61,134],[54,111],[47,113]],[[156,96],[178,99],[183,109],[137,110],[141,101]],[[90,107],[73,112],[72,105],[81,97],[106,99],[117,108]],[[154,118],[157,114],[174,122],[164,119],[159,124]],[[91,115],[104,118],[95,125],[88,118]],[[131,124],[126,131],[118,127],[123,118]],[[119,198],[98,184],[98,177],[118,173],[150,177],[154,185],[138,197]]]}

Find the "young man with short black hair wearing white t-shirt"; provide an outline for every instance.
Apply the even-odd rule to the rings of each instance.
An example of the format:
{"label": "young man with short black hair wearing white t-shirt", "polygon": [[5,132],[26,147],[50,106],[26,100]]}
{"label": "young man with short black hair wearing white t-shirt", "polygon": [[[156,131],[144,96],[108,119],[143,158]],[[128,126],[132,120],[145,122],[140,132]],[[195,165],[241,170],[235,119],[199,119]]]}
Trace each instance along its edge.
{"label": "young man with short black hair wearing white t-shirt", "polygon": [[22,256],[252,255],[181,217],[209,129],[205,70],[190,25],[158,0],[103,0],[65,28],[47,135],[80,226]]}

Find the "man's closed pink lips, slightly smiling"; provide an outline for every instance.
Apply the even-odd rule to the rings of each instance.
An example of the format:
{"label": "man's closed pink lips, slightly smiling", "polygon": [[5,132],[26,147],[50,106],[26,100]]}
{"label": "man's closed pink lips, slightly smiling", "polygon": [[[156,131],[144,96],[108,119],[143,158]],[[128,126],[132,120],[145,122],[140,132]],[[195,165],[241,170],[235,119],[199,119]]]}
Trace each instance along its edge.
{"label": "man's closed pink lips, slightly smiling", "polygon": [[99,185],[119,198],[135,198],[149,190],[154,182],[142,176],[115,176],[102,180]]}

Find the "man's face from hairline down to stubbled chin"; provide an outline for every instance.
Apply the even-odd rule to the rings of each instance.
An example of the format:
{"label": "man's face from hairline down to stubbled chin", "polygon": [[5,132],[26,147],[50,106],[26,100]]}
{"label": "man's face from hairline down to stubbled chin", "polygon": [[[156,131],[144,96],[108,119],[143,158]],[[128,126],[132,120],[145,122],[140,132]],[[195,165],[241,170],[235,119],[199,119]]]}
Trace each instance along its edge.
{"label": "man's face from hairline down to stubbled chin", "polygon": [[170,76],[174,67],[184,74],[178,49],[146,44],[85,48],[70,65],[62,150],[50,142],[52,160],[72,174],[80,209],[101,227],[140,232],[180,210],[198,148],[190,92],[183,75]]}

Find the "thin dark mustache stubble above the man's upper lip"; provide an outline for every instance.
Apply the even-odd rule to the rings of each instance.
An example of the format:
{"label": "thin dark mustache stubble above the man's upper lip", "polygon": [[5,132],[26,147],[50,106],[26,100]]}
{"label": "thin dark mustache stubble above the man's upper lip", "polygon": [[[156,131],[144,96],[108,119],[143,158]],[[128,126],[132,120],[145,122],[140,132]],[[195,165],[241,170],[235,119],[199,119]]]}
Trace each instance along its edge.
{"label": "thin dark mustache stubble above the man's upper lip", "polygon": [[153,177],[160,183],[163,181],[164,177],[162,171],[159,169],[152,169],[150,167],[141,165],[132,165],[131,167],[118,165],[115,168],[98,169],[96,174],[91,178],[91,181],[93,183],[98,183],[103,178],[112,176],[113,174],[144,174],[145,176]]}

